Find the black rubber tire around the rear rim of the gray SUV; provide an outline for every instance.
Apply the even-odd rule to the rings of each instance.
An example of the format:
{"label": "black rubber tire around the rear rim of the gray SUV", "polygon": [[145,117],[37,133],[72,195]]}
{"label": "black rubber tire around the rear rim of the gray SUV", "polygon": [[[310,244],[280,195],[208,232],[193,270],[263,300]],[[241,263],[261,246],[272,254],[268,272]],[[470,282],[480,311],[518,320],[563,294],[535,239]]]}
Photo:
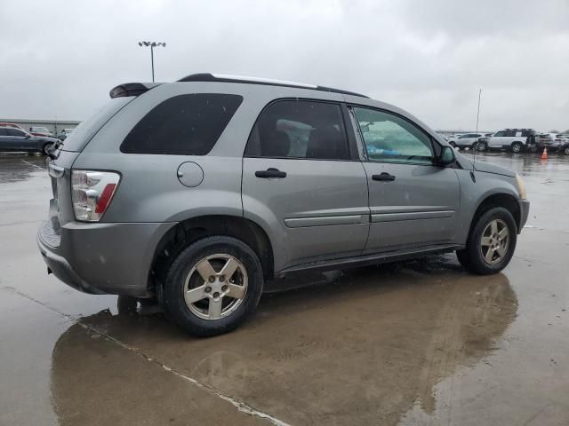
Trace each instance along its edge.
{"label": "black rubber tire around the rear rim of the gray SUV", "polygon": [[[204,319],[190,310],[184,298],[184,291],[188,274],[204,257],[212,255],[232,256],[238,260],[246,272],[247,286],[243,299],[234,311],[219,319]],[[199,277],[197,278],[199,279]],[[263,282],[262,265],[252,248],[236,238],[213,236],[196,241],[175,258],[166,273],[159,297],[162,299],[162,305],[168,317],[188,334],[197,336],[220,335],[238,327],[255,310],[262,293]],[[206,283],[203,285],[207,286]],[[207,302],[208,306],[211,306],[212,298],[208,300],[206,297],[199,303],[204,301]]]}

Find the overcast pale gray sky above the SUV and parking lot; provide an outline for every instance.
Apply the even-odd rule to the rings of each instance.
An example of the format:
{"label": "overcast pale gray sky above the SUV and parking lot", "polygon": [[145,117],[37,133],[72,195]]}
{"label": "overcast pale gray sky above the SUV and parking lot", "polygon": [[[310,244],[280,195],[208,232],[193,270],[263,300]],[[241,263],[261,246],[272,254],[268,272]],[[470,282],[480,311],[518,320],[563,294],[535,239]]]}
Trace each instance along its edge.
{"label": "overcast pale gray sky above the SUV and parking lot", "polygon": [[438,129],[569,128],[569,0],[3,0],[0,117],[84,120],[195,72],[359,91]]}

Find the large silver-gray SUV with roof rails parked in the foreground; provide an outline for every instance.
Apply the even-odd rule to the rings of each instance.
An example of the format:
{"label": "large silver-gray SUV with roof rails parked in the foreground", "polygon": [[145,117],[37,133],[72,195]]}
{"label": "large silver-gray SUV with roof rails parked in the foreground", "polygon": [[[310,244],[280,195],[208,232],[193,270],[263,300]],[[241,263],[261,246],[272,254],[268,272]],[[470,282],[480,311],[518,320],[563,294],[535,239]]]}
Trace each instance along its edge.
{"label": "large silver-gray SUV with roof rails parked in the foreground", "polygon": [[200,74],[110,97],[48,153],[39,249],[71,287],[156,296],[193,335],[237,327],[286,272],[450,251],[499,272],[528,215],[515,173],[357,93]]}

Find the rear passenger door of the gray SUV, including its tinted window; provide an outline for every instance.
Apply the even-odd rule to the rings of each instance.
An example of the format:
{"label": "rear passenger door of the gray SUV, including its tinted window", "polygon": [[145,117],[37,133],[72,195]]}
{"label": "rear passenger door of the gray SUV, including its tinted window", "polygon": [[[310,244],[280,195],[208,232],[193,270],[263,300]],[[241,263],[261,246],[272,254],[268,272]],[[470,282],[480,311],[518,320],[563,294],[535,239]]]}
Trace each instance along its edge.
{"label": "rear passenger door of the gray SUV, including its tinted window", "polygon": [[351,158],[344,111],[335,102],[281,99],[252,129],[243,159],[244,216],[273,233],[281,250],[276,272],[365,247],[367,182],[362,163]]}

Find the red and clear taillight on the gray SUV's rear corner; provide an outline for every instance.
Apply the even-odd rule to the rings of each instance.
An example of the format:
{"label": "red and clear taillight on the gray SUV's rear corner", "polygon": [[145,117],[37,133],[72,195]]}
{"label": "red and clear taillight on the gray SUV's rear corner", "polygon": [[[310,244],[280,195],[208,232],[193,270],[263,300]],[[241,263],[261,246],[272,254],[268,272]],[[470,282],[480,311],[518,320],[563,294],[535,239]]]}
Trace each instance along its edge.
{"label": "red and clear taillight on the gray SUV's rear corner", "polygon": [[71,201],[76,220],[99,222],[119,180],[120,175],[112,171],[71,170]]}

